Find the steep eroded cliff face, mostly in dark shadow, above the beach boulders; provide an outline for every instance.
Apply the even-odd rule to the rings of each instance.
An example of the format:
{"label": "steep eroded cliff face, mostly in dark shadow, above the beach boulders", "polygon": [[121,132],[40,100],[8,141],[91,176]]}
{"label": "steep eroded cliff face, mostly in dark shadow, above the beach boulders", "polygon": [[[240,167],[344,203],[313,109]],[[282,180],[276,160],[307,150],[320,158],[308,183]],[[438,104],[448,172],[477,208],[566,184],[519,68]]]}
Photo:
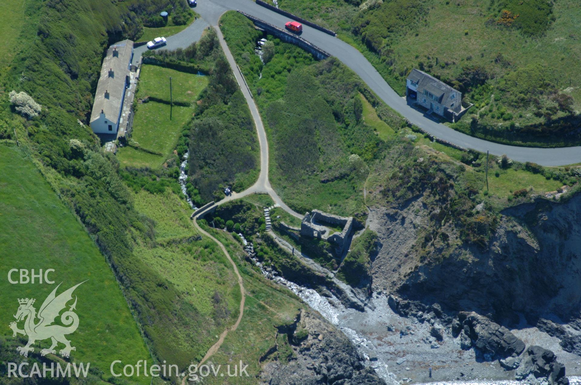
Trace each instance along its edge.
{"label": "steep eroded cliff face, mostly in dark shadow, above the beach boulders", "polygon": [[507,324],[518,322],[517,312],[533,323],[579,315],[581,195],[504,210],[486,248],[468,247],[458,229],[445,228],[449,239],[423,261],[414,254],[429,226],[421,197],[402,210],[374,208],[369,223],[382,242],[372,267],[375,290]]}

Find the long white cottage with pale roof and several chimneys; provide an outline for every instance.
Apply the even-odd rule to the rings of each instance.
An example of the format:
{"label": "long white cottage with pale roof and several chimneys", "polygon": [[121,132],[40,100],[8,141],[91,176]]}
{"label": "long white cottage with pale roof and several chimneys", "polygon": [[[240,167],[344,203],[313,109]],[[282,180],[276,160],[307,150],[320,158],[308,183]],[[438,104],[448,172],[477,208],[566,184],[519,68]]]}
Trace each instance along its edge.
{"label": "long white cottage with pale roof and several chimneys", "polygon": [[125,90],[130,86],[133,42],[123,40],[107,49],[91,112],[95,134],[117,134]]}

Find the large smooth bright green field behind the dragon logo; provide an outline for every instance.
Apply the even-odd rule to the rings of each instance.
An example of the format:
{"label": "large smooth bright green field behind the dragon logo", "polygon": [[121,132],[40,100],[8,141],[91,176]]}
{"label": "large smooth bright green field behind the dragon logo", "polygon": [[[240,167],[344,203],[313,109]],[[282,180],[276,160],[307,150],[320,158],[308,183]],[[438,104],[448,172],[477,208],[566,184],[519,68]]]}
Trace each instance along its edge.
{"label": "large smooth bright green field behind the dragon logo", "polygon": [[[14,321],[17,298],[36,298],[38,308],[44,298],[62,282],[59,293],[79,286],[77,314],[80,324],[70,335],[77,348],[76,361],[91,362],[105,373],[115,359],[137,362],[150,359],[137,324],[114,279],[113,272],[95,243],[69,209],[59,200],[33,163],[19,149],[0,145],[0,250],[2,276],[11,268],[55,269],[54,285],[9,285],[0,293],[2,325]],[[20,323],[20,327],[21,327]],[[12,331],[2,329],[12,338]],[[49,341],[41,341],[43,348]],[[35,344],[38,352],[39,343]],[[149,383],[136,377],[139,383]]]}

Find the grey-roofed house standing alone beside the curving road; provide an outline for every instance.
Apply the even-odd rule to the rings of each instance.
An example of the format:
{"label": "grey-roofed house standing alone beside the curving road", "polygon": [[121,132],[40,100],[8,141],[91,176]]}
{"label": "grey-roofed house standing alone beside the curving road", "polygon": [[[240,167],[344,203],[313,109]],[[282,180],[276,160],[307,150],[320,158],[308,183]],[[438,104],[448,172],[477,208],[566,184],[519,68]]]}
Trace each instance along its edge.
{"label": "grey-roofed house standing alone beside the curving road", "polygon": [[462,110],[462,92],[417,69],[411,70],[406,80],[406,98],[409,102],[428,109],[428,114],[456,121]]}

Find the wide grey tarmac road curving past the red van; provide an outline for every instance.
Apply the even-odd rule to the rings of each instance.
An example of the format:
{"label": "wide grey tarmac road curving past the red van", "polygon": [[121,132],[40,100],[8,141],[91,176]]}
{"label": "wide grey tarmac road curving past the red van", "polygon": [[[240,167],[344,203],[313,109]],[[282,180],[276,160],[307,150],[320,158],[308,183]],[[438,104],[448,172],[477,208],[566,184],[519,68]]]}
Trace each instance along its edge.
{"label": "wide grey tarmac road curving past the red van", "polygon": [[[175,49],[187,47],[200,38],[205,28],[216,26],[220,16],[224,12],[236,9],[259,17],[279,27],[284,27],[284,23],[289,21],[288,17],[261,7],[252,0],[200,0],[195,11],[202,16],[201,19],[196,20],[184,31],[168,37],[167,46],[164,48]],[[335,56],[359,75],[383,102],[399,112],[411,124],[421,127],[426,132],[429,132],[429,134],[437,136],[437,138],[480,152],[489,150],[491,154],[498,156],[507,154],[508,157],[517,161],[532,161],[547,166],[581,163],[581,146],[550,149],[509,146],[475,138],[474,136],[455,131],[444,124],[436,123],[420,111],[408,106],[406,100],[401,98],[401,96],[389,87],[388,83],[383,80],[371,63],[353,46],[336,37],[304,25],[301,37],[331,53],[331,55]],[[144,46],[136,48],[134,56],[141,56],[141,52],[145,51],[145,49]]]}

